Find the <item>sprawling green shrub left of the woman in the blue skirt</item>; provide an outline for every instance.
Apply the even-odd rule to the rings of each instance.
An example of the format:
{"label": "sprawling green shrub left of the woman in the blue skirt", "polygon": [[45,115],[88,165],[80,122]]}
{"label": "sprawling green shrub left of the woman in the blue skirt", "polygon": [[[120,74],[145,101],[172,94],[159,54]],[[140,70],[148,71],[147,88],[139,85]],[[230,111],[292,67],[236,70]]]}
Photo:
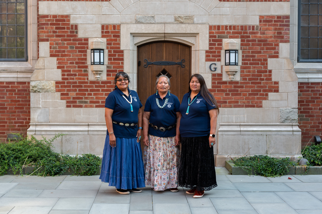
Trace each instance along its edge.
{"label": "sprawling green shrub left of the woman in the blue skirt", "polygon": [[92,154],[83,156],[61,155],[51,150],[52,142],[63,134],[57,134],[47,140],[37,140],[19,135],[16,141],[0,143],[0,175],[11,168],[15,173],[23,174],[24,167],[32,166],[30,174],[40,176],[61,175],[66,170],[73,175],[94,175],[99,170],[101,159]]}

